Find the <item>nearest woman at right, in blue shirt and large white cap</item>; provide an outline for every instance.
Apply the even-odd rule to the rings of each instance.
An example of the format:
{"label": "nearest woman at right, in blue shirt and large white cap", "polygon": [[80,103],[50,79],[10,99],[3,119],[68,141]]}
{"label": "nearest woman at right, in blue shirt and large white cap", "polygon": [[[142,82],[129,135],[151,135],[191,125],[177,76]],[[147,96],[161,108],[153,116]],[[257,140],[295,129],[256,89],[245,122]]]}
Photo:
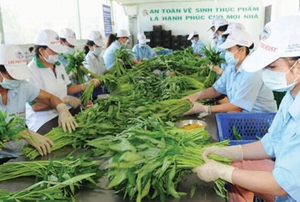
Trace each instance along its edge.
{"label": "nearest woman at right, in blue shirt and large white cap", "polygon": [[[259,141],[204,149],[205,164],[194,169],[204,181],[218,178],[230,183],[230,201],[300,201],[300,16],[289,15],[266,24],[259,47],[244,69],[262,69],[262,79],[274,91],[287,91],[268,130]],[[208,159],[226,156],[232,166]],[[271,159],[275,158],[275,162]],[[237,169],[239,168],[239,169]]]}

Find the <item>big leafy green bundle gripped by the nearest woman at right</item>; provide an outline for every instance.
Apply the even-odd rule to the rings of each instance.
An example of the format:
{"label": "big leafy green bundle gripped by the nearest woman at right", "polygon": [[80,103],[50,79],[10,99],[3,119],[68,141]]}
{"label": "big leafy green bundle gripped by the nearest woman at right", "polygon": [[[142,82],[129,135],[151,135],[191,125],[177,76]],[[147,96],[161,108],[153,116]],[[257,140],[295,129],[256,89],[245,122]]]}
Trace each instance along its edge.
{"label": "big leafy green bundle gripped by the nearest woman at right", "polygon": [[[108,158],[104,163],[107,187],[136,202],[156,197],[163,202],[167,196],[186,195],[178,190],[178,185],[193,168],[204,164],[202,148],[210,144],[210,136],[204,128],[179,129],[158,117],[141,118],[117,136],[107,135],[88,142],[96,156]],[[217,155],[210,158],[230,162]],[[217,193],[225,197],[225,182],[217,180],[215,184]]]}

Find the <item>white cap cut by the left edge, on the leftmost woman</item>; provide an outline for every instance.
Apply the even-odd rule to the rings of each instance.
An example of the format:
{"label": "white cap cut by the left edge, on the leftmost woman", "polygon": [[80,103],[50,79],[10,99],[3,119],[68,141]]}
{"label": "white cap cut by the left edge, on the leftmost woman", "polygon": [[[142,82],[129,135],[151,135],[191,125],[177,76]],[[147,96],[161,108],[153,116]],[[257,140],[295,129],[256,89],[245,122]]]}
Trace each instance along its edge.
{"label": "white cap cut by the left edge, on the leftmost woman", "polygon": [[25,54],[17,45],[0,44],[0,64],[16,80],[25,80],[31,75]]}

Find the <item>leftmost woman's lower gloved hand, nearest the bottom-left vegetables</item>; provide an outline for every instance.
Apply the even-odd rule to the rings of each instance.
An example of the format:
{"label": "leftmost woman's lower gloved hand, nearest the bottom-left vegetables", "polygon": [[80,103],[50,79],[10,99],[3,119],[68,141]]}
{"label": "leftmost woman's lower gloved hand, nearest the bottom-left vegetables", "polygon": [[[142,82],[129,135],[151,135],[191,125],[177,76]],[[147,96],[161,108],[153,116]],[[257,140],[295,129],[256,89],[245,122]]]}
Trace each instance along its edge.
{"label": "leftmost woman's lower gloved hand, nearest the bottom-left vegetables", "polygon": [[49,138],[31,130],[24,131],[24,134],[25,136],[28,136],[28,138],[25,138],[25,140],[34,148],[36,148],[41,156],[51,153],[50,147],[54,146],[54,144]]}

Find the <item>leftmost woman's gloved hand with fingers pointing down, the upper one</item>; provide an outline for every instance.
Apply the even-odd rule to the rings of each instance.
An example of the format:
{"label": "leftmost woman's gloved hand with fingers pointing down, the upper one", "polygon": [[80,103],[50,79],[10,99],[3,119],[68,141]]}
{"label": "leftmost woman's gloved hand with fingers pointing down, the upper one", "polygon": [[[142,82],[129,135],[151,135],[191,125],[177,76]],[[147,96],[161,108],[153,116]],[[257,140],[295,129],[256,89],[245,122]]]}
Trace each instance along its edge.
{"label": "leftmost woman's gloved hand with fingers pointing down, the upper one", "polygon": [[71,133],[72,130],[78,126],[74,117],[68,110],[68,107],[64,103],[60,103],[56,106],[56,110],[58,111],[58,125],[63,127],[64,132],[68,129]]}

